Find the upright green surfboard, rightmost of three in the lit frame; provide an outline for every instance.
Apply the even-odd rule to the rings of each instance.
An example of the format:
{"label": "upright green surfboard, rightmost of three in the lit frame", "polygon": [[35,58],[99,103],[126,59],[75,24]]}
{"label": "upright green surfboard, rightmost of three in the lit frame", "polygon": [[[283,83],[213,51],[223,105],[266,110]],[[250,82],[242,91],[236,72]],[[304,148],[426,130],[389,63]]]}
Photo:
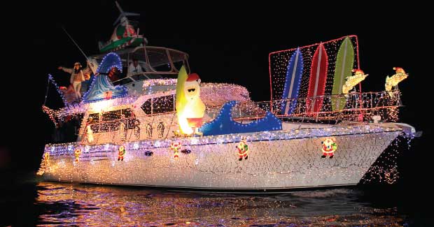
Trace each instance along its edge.
{"label": "upright green surfboard, rightmost of three in the lit frame", "polygon": [[[354,47],[349,37],[344,38],[337,51],[335,76],[333,78],[332,94],[342,94],[342,86],[346,78],[351,75],[354,64]],[[345,107],[346,99],[332,98],[332,110],[342,110]]]}

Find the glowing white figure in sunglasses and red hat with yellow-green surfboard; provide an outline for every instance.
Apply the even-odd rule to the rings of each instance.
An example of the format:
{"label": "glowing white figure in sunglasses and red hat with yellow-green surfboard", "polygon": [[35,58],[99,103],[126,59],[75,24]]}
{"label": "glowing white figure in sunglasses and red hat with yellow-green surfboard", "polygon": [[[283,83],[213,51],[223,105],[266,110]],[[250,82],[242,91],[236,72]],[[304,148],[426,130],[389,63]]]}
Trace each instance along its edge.
{"label": "glowing white figure in sunglasses and red hat with yellow-green surfboard", "polygon": [[176,115],[178,117],[181,134],[190,136],[199,134],[205,104],[200,99],[200,78],[196,73],[187,74],[186,68],[181,67],[176,84]]}

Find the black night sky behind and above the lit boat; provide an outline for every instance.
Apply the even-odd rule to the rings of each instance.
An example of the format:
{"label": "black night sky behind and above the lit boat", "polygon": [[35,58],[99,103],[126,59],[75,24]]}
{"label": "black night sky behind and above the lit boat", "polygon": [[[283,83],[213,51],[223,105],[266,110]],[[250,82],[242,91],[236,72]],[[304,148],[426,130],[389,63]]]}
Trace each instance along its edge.
{"label": "black night sky behind and above the lit boat", "polygon": [[[363,91],[384,90],[384,79],[393,74],[393,66],[409,73],[409,78],[399,85],[405,105],[400,121],[423,131],[423,138],[414,140],[402,165],[408,167],[405,175],[419,177],[421,168],[428,164],[429,159],[423,157],[432,154],[423,147],[423,140],[430,138],[426,108],[432,105],[428,83],[433,70],[429,68],[432,64],[424,63],[425,54],[432,49],[430,38],[421,29],[428,26],[426,13],[400,5],[347,6],[347,10],[338,10],[313,6],[313,2],[309,6],[235,6],[221,1],[204,1],[196,6],[167,1],[119,3],[125,11],[141,14],[140,33],[148,38],[149,45],[187,52],[191,71],[198,73],[203,82],[242,85],[251,92],[253,101],[269,99],[269,52],[358,35],[360,65],[370,74],[363,82]],[[54,129],[41,110],[47,75],[52,73],[59,85],[69,85],[69,75],[57,70],[57,66],[85,63],[61,27],[87,54],[97,54],[97,41],[110,38],[118,9],[114,1],[22,4],[26,7],[17,8],[20,14],[10,18],[7,23],[14,26],[3,36],[12,37],[3,45],[13,48],[14,53],[10,56],[13,71],[6,75],[8,86],[2,91],[2,101],[8,107],[3,105],[2,115],[6,113],[8,120],[0,143],[0,168],[36,171],[43,146],[50,142]],[[416,14],[409,15],[411,12]],[[19,37],[13,38],[13,34]],[[47,105],[55,108],[59,103],[50,85]],[[414,180],[422,179],[417,177]]]}

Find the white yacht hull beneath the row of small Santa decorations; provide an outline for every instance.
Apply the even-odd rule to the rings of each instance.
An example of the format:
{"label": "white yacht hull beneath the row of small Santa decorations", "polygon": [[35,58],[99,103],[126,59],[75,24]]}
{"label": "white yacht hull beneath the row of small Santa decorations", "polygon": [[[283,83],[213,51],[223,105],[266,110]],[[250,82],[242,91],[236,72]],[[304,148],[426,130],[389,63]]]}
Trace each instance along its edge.
{"label": "white yacht hull beneath the row of small Santa decorations", "polygon": [[[167,145],[170,140],[166,143],[154,140],[152,147],[146,148],[143,142],[132,142],[126,145],[124,161],[118,161],[118,145],[102,145],[105,150],[82,146],[78,162],[74,162],[72,150],[79,145],[69,144],[63,145],[67,147],[66,152],[50,155],[43,176],[45,180],[66,182],[230,191],[353,185],[400,133],[398,130],[349,134],[335,131],[328,135],[337,140],[332,159],[321,158],[324,137],[281,136],[286,134],[279,134],[278,139],[276,135],[270,140],[251,139],[248,159],[242,161],[238,160],[238,142],[203,142],[203,139],[197,142],[190,138],[189,144],[183,142],[183,148],[190,149],[191,153],[179,152],[179,159],[174,159],[174,152]],[[251,138],[253,134],[249,134]],[[58,145],[45,147],[45,152],[55,146]],[[147,151],[153,155],[146,156]]]}

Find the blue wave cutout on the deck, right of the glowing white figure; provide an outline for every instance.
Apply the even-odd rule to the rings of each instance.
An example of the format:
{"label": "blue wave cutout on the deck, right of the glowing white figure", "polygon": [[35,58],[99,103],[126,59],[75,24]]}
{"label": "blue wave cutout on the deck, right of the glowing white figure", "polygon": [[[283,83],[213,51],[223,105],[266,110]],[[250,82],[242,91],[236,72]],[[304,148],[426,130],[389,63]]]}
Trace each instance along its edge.
{"label": "blue wave cutout on the deck, right of the glowing white figure", "polygon": [[231,110],[237,103],[237,101],[229,101],[228,103],[225,103],[216,119],[202,125],[199,131],[202,132],[204,136],[214,136],[231,133],[275,131],[282,129],[281,120],[269,111],[267,111],[267,114],[262,119],[258,119],[248,124],[241,124],[239,122],[235,122],[232,119]]}

